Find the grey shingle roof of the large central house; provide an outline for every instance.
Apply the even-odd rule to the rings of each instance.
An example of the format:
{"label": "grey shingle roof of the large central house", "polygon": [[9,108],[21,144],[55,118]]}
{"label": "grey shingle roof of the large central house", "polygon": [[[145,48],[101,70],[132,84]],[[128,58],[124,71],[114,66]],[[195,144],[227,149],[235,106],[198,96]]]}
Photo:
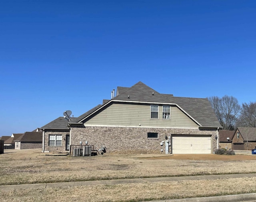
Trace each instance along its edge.
{"label": "grey shingle roof of the large central house", "polygon": [[[179,105],[184,111],[186,111],[186,113],[188,113],[188,115],[190,115],[190,117],[195,119],[203,127],[221,127],[208,99],[174,97],[172,94],[161,94],[141,81],[132,87],[118,87],[117,96],[112,100],[147,103],[173,103]],[[109,101],[110,100],[103,100],[103,105]],[[77,118],[72,117],[72,122],[80,122],[103,105],[97,105]],[[63,117],[59,117],[41,128],[68,129],[68,121]]]}

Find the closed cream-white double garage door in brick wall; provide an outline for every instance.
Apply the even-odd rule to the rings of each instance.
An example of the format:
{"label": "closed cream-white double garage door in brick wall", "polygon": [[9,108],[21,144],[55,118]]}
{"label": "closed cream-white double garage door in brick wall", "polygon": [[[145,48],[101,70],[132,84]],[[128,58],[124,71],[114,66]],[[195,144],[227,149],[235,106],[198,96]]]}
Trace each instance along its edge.
{"label": "closed cream-white double garage door in brick wall", "polygon": [[211,154],[211,136],[172,135],[173,154]]}

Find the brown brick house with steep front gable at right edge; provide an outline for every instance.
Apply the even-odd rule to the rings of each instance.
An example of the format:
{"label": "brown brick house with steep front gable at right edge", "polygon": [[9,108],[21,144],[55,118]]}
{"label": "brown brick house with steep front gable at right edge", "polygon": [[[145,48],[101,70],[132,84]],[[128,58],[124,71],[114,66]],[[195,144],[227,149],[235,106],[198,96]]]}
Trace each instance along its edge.
{"label": "brown brick house with steep front gable at right edge", "polygon": [[252,150],[256,148],[256,128],[238,127],[232,138],[232,150]]}

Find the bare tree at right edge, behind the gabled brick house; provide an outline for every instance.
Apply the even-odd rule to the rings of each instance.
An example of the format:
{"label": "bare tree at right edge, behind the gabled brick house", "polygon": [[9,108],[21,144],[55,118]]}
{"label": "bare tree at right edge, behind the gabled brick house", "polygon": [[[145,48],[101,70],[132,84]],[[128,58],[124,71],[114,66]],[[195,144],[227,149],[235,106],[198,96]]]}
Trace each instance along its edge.
{"label": "bare tree at right edge, behind the gabled brick house", "polygon": [[256,102],[242,104],[238,126],[256,127]]}

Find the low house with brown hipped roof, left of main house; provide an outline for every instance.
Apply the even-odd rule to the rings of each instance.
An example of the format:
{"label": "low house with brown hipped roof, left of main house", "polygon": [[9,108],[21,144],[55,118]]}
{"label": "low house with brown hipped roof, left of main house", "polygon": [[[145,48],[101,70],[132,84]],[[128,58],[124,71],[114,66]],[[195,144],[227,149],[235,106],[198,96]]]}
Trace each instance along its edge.
{"label": "low house with brown hipped roof, left of main house", "polygon": [[26,132],[14,140],[15,149],[42,148],[42,132]]}

